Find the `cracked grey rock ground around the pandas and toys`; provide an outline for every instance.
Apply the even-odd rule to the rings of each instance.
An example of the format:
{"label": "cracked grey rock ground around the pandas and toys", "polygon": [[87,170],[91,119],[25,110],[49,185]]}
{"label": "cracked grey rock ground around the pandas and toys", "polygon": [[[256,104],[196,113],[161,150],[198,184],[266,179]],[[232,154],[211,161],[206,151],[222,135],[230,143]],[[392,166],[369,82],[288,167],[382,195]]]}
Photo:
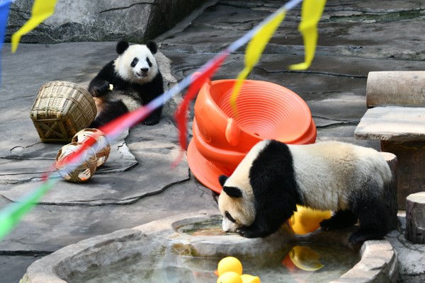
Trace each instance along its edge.
{"label": "cracked grey rock ground around the pandas and toys", "polygon": [[[157,38],[169,86],[196,71],[276,10],[280,1],[207,1],[185,21]],[[289,71],[302,62],[297,32],[300,8],[289,11],[249,79],[271,81],[305,99],[317,139],[338,139],[378,149],[378,141],[358,141],[353,131],[363,116],[369,71],[421,70],[425,50],[423,1],[327,1],[319,23],[316,57],[307,71]],[[42,144],[29,118],[43,83],[65,80],[86,86],[115,57],[114,42],[10,45],[2,50],[0,103],[0,208],[38,185],[61,144]],[[170,60],[170,61],[169,61]],[[234,79],[243,68],[244,49],[231,54],[213,79]],[[169,66],[169,67],[167,67]],[[165,216],[217,209],[211,191],[193,178],[179,154],[173,110],[162,122],[139,125],[114,142],[115,155],[90,183],[59,182],[21,224],[0,242],[1,282],[18,282],[31,262],[84,238],[145,224]],[[403,217],[400,217],[403,220]],[[403,223],[401,222],[401,228]],[[399,253],[402,282],[425,280],[424,247],[404,240],[402,229],[388,239]]]}

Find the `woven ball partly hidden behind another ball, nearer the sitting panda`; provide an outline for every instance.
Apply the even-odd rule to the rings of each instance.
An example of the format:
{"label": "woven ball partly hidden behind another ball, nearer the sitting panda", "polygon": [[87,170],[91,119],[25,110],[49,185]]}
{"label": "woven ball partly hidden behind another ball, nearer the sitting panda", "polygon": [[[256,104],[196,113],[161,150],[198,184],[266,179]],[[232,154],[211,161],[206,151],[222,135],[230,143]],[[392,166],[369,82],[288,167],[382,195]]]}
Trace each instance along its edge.
{"label": "woven ball partly hidden behind another ball, nearer the sitting panda", "polygon": [[74,135],[72,142],[86,143],[92,146],[94,151],[96,151],[98,167],[106,162],[111,153],[111,144],[109,143],[108,136],[99,129],[81,129],[81,131]]}

